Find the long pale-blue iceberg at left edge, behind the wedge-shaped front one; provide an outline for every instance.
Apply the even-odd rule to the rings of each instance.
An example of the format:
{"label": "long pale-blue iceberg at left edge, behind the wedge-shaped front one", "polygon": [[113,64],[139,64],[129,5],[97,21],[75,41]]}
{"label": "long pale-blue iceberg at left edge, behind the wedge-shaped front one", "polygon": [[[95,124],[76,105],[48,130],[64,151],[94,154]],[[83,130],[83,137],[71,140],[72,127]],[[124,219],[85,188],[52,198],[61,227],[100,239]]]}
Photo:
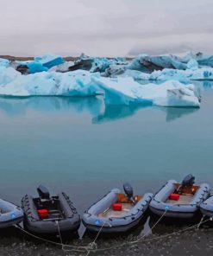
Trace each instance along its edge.
{"label": "long pale-blue iceberg at left edge, behind the wedge-shaped front one", "polygon": [[[93,76],[100,74],[93,74]],[[91,74],[78,70],[68,73],[49,73],[21,75],[0,87],[4,96],[91,96],[102,93],[91,81]]]}

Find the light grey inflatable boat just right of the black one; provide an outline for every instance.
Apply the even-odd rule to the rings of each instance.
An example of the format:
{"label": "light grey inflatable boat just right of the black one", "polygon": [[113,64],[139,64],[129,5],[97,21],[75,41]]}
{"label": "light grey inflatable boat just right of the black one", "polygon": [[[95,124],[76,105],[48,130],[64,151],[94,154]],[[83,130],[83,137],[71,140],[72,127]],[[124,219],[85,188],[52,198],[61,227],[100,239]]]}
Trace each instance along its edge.
{"label": "light grey inflatable boat just right of the black one", "polygon": [[128,183],[123,189],[125,194],[120,189],[112,189],[85,211],[82,221],[87,229],[98,232],[101,228],[103,233],[127,232],[141,221],[153,194],[134,196]]}

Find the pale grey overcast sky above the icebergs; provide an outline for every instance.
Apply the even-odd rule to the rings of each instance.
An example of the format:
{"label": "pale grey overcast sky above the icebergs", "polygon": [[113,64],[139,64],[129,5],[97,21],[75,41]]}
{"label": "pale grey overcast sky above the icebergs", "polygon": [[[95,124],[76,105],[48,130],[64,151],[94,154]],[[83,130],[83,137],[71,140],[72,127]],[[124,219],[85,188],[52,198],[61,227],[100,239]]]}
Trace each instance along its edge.
{"label": "pale grey overcast sky above the icebergs", "polygon": [[0,0],[0,54],[213,53],[213,0]]}

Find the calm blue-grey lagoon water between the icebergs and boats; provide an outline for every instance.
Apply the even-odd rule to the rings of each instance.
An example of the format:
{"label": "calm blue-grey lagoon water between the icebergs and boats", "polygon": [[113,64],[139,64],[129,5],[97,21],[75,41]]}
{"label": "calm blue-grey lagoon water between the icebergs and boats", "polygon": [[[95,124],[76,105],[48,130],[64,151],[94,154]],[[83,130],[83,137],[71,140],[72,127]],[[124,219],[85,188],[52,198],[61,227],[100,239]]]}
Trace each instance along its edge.
{"label": "calm blue-grey lagoon water between the icebergs and boats", "polygon": [[0,99],[1,197],[19,203],[42,183],[82,212],[123,182],[143,193],[192,173],[213,185],[213,83],[197,86],[200,109]]}

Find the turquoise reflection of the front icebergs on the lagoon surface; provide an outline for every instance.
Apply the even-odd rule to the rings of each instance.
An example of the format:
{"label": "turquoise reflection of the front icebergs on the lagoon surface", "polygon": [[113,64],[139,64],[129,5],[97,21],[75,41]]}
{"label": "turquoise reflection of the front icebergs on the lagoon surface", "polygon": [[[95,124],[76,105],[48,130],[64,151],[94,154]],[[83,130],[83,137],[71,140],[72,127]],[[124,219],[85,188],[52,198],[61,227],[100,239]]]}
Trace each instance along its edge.
{"label": "turquoise reflection of the front icebergs on the lagoon surface", "polygon": [[29,110],[38,112],[89,112],[92,124],[103,124],[122,118],[129,118],[139,110],[147,108],[166,112],[166,121],[197,112],[197,108],[157,107],[150,104],[104,105],[101,97],[63,98],[63,97],[32,97],[25,99],[0,98],[0,112],[8,116],[26,115]]}

